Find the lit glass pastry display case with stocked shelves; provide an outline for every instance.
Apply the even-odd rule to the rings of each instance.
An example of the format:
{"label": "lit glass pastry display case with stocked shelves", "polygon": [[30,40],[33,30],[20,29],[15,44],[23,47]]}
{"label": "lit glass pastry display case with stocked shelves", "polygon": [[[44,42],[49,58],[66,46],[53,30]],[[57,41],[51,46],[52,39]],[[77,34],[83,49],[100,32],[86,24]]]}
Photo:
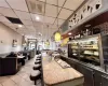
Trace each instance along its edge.
{"label": "lit glass pastry display case with stocked shelves", "polygon": [[97,66],[103,64],[100,34],[76,39],[69,44],[71,44],[72,58]]}

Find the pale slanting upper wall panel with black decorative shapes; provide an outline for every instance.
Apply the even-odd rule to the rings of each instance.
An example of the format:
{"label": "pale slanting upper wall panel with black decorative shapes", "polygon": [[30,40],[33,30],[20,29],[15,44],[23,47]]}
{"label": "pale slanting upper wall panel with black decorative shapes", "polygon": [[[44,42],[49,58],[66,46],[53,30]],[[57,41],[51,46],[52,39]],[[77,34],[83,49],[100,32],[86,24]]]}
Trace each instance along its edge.
{"label": "pale slanting upper wall panel with black decorative shapes", "polygon": [[85,19],[102,8],[102,0],[90,0],[69,19],[68,29],[71,29],[82,19]]}

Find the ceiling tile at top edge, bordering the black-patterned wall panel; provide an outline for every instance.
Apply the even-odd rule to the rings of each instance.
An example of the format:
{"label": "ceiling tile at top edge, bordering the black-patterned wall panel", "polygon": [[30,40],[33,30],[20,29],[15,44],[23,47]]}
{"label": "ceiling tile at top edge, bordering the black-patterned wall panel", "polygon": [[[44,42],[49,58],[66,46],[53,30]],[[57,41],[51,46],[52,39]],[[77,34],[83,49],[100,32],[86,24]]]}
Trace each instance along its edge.
{"label": "ceiling tile at top edge, bordering the black-patterned wall panel", "polygon": [[67,0],[64,8],[76,11],[84,0]]}

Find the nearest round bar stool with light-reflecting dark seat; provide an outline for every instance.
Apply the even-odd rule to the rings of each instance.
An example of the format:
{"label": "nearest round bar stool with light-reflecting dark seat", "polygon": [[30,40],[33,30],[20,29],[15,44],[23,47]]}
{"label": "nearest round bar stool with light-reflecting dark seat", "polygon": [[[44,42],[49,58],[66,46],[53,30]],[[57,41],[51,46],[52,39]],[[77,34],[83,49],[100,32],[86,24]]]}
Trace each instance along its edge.
{"label": "nearest round bar stool with light-reflecting dark seat", "polygon": [[41,78],[41,72],[39,70],[32,71],[29,78],[35,82],[35,85],[37,85],[37,81]]}

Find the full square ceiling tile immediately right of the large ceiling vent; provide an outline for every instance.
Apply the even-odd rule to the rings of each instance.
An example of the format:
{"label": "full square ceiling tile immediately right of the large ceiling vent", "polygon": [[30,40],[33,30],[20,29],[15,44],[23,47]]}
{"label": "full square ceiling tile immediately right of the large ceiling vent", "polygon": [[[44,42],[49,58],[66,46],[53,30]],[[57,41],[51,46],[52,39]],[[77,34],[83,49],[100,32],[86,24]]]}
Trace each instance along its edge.
{"label": "full square ceiling tile immediately right of the large ceiling vent", "polygon": [[57,16],[57,6],[46,4],[45,15],[56,17]]}

